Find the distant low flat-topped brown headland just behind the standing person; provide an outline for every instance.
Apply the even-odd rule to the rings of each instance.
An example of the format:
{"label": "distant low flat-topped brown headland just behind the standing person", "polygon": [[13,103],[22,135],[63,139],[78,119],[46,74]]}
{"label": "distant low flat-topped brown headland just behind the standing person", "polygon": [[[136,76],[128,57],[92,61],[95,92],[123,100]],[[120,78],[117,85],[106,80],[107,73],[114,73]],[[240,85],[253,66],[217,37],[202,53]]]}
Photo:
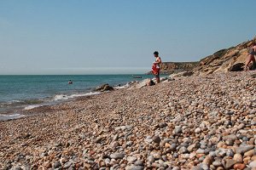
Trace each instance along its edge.
{"label": "distant low flat-topped brown headland just behind the standing person", "polygon": [[[173,74],[183,71],[192,71],[199,62],[163,62],[160,64],[161,74]],[[151,74],[151,71],[148,72]]]}

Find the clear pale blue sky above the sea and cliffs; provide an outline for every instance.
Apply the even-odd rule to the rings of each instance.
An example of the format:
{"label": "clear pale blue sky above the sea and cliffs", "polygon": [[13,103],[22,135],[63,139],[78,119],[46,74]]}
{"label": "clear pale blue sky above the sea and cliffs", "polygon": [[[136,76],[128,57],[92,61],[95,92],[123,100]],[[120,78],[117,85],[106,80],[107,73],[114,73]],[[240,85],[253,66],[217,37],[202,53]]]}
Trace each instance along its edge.
{"label": "clear pale blue sky above the sea and cliffs", "polygon": [[0,74],[134,73],[256,35],[255,0],[1,0]]}

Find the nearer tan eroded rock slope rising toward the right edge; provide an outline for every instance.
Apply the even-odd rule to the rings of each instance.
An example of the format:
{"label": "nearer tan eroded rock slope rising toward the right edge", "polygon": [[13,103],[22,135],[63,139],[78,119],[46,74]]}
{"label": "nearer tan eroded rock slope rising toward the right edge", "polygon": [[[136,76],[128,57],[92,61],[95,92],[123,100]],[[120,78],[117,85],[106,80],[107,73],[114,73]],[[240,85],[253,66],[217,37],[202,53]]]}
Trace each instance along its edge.
{"label": "nearer tan eroded rock slope rising toward the right edge", "polygon": [[[200,60],[197,67],[193,69],[196,74],[211,74],[215,72],[243,71],[247,60],[247,50],[253,40],[242,42],[236,47],[219,50],[218,52]],[[252,69],[252,65],[251,69]]]}

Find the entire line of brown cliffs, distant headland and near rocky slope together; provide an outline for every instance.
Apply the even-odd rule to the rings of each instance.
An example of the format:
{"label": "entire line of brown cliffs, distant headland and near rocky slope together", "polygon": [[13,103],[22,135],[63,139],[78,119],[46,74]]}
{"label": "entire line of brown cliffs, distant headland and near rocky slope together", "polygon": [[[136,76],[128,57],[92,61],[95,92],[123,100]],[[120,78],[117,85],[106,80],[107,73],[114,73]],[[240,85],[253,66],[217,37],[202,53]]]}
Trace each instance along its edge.
{"label": "entire line of brown cliffs, distant headland and near rocky slope together", "polygon": [[[164,62],[160,65],[160,73],[176,74],[178,72],[191,71],[192,74],[204,75],[216,72],[243,71],[247,61],[248,48],[253,42],[256,42],[256,37],[253,40],[242,42],[236,47],[221,49],[201,59],[199,62]],[[253,70],[252,64],[249,67],[250,70]],[[148,74],[150,73],[148,72]]]}

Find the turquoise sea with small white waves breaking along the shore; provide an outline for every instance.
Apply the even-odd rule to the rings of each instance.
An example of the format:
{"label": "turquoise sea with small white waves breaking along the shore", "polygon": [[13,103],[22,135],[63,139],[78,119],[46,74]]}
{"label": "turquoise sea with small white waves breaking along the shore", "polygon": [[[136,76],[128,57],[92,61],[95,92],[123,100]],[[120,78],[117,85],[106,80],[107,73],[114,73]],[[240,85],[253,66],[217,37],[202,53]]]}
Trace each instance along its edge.
{"label": "turquoise sea with small white waves breaking along the shore", "polygon": [[[142,77],[137,79],[134,77]],[[150,75],[33,75],[0,76],[0,121],[19,118],[24,110],[56,105],[81,96],[97,95],[99,85],[122,88]],[[69,80],[73,84],[69,84]]]}

